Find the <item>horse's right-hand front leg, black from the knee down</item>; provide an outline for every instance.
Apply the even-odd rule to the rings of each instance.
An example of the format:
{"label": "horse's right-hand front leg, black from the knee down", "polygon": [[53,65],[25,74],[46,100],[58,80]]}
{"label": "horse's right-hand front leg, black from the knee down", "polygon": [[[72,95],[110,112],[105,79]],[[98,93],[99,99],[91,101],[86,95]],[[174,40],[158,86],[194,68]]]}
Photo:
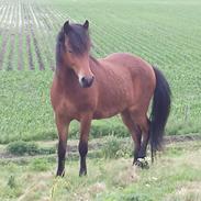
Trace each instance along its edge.
{"label": "horse's right-hand front leg, black from the knee down", "polygon": [[79,176],[87,175],[86,157],[88,153],[88,138],[91,126],[91,115],[85,115],[81,119],[80,139],[79,139],[79,155],[80,155],[80,170]]}

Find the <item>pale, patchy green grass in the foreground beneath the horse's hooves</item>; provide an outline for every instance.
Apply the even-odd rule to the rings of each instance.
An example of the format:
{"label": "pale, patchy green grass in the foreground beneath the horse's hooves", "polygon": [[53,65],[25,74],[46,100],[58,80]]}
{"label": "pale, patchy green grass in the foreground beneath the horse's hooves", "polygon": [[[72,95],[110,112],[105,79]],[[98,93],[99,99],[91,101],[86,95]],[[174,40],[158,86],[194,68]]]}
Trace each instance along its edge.
{"label": "pale, patchy green grass in the foreground beneath the horse's hooves", "polygon": [[0,200],[200,201],[201,141],[169,144],[146,170],[132,166],[115,137],[105,142],[115,142],[113,152],[107,143],[90,149],[81,178],[78,153],[69,155],[64,178],[55,178],[55,155],[0,159]]}

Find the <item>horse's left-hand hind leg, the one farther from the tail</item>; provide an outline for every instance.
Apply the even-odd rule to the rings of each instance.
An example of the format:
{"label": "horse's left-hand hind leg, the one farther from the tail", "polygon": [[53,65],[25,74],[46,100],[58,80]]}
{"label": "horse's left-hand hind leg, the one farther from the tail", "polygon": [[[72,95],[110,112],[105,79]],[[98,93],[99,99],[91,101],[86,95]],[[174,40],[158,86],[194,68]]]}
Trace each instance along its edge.
{"label": "horse's left-hand hind leg, the one farther from the tail", "polygon": [[133,142],[134,142],[134,160],[133,164],[135,164],[137,161],[138,158],[138,153],[141,149],[141,139],[142,139],[142,132],[141,129],[137,124],[134,123],[134,121],[132,120],[131,113],[129,111],[124,111],[121,113],[122,115],[122,120],[124,122],[124,124],[126,125],[126,127],[129,129]]}

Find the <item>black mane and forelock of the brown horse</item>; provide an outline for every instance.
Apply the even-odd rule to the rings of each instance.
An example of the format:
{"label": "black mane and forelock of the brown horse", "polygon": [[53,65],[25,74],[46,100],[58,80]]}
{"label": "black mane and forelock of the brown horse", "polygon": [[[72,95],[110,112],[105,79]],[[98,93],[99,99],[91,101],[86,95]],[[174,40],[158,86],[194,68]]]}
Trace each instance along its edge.
{"label": "black mane and forelock of the brown horse", "polygon": [[68,33],[65,33],[64,27],[62,27],[60,32],[57,35],[57,43],[56,43],[57,64],[63,62],[62,55],[66,51],[65,34],[68,38],[69,49],[72,52],[72,54],[82,55],[83,53],[90,51],[91,41],[89,32],[81,24],[70,24],[70,30],[68,31]]}

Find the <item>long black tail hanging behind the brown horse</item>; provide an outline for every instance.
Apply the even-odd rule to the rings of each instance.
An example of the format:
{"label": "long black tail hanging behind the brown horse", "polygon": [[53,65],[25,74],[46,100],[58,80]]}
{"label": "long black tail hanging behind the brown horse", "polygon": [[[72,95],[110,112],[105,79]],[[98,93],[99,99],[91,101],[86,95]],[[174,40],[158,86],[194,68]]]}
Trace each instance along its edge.
{"label": "long black tail hanging behind the brown horse", "polygon": [[157,68],[153,67],[156,76],[156,88],[154,91],[152,113],[150,113],[150,152],[152,160],[154,154],[161,148],[165,125],[170,111],[171,91],[169,85]]}

